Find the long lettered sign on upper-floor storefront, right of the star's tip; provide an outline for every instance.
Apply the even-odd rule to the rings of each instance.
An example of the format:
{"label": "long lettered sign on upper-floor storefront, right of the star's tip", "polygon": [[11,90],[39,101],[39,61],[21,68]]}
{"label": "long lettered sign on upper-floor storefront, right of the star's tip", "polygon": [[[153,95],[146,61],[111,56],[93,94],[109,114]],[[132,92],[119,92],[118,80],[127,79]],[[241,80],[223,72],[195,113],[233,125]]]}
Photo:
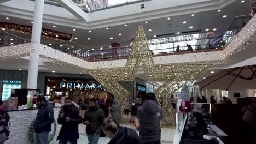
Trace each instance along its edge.
{"label": "long lettered sign on upper-floor storefront, right of the star's tip", "polygon": [[148,40],[149,45],[158,45],[158,44],[165,44],[165,43],[175,43],[179,41],[188,41],[193,40],[193,35],[183,35],[179,37],[168,37],[168,38],[160,38],[160,39],[150,39]]}

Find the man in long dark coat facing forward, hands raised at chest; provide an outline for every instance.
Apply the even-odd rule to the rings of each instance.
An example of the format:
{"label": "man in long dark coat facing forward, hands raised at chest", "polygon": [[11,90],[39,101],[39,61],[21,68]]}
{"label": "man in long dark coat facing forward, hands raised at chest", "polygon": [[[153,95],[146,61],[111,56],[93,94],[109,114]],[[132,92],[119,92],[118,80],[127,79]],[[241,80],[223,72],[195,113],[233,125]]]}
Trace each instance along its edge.
{"label": "man in long dark coat facing forward, hands raised at chest", "polygon": [[77,144],[79,139],[78,125],[82,122],[79,113],[79,106],[72,102],[72,98],[66,98],[65,104],[61,107],[58,123],[62,125],[60,134],[57,137],[59,144]]}

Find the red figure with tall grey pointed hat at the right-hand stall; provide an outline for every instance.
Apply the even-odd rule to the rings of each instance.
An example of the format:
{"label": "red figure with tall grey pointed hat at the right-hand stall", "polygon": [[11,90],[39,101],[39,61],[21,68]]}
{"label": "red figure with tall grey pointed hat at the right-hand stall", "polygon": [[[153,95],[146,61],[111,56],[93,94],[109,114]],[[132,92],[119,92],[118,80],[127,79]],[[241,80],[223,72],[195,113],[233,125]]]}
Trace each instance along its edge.
{"label": "red figure with tall grey pointed hat at the right-hand stall", "polygon": [[182,113],[188,113],[191,111],[189,87],[191,86],[190,81],[186,81],[181,88],[181,95],[178,100],[179,111]]}

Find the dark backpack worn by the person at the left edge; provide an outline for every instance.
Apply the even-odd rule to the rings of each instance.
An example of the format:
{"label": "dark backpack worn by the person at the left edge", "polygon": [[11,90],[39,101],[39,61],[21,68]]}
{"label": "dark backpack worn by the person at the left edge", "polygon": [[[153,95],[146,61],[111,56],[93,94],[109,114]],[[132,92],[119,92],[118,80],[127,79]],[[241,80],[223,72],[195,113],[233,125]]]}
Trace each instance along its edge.
{"label": "dark backpack worn by the person at the left edge", "polygon": [[10,120],[10,116],[8,113],[4,113],[4,115],[0,115],[0,143],[9,139],[9,125],[8,122]]}

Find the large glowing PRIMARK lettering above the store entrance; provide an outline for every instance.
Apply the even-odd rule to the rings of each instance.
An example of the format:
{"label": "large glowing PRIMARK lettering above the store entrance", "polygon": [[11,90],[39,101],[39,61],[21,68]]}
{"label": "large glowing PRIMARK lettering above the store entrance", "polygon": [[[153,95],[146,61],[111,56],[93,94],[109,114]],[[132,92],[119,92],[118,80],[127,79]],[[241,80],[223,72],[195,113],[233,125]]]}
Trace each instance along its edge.
{"label": "large glowing PRIMARK lettering above the store entrance", "polygon": [[71,83],[71,82],[61,82],[60,88],[67,89],[102,89],[101,84],[95,83]]}

